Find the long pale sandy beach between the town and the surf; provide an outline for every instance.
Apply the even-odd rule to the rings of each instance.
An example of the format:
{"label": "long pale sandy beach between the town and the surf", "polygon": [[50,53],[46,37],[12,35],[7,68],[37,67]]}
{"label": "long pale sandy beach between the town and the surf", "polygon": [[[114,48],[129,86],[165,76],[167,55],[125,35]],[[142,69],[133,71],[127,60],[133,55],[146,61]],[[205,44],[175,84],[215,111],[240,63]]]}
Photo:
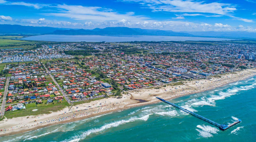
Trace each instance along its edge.
{"label": "long pale sandy beach between the town and the surf", "polygon": [[0,137],[30,130],[37,130],[55,124],[74,122],[88,117],[108,114],[135,106],[157,103],[159,100],[156,99],[156,97],[170,100],[184,95],[211,90],[239,80],[245,80],[255,75],[255,68],[246,69],[223,75],[215,75],[211,77],[212,80],[201,79],[184,81],[182,83],[176,83],[179,85],[174,85],[174,83],[166,84],[166,87],[158,86],[159,89],[152,87],[128,91],[124,92],[121,99],[117,99],[116,97],[100,99],[90,103],[72,106],[70,111],[69,107],[66,107],[60,111],[52,112],[51,114],[4,119],[3,121],[0,121],[0,130],[2,130],[0,131]]}

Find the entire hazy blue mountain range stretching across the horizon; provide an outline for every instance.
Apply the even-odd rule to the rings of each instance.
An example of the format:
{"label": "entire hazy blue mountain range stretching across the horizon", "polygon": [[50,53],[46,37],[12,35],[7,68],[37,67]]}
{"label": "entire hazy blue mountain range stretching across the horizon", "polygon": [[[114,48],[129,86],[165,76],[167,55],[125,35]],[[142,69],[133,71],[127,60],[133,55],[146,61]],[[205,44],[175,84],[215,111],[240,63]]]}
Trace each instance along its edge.
{"label": "entire hazy blue mountain range stretching across the horizon", "polygon": [[127,27],[107,27],[94,29],[71,29],[52,27],[33,27],[21,25],[0,24],[0,34],[52,34],[52,35],[165,35],[165,36],[201,36],[201,37],[236,37],[256,38],[256,33],[250,32],[174,32],[170,30],[141,29]]}

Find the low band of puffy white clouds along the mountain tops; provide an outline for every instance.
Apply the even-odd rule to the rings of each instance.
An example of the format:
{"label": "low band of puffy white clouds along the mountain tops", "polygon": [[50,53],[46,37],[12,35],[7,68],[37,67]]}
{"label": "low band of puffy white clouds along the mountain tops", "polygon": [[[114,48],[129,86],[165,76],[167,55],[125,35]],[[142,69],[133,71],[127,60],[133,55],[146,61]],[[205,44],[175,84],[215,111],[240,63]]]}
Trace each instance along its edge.
{"label": "low band of puffy white clouds along the mountain tops", "polygon": [[146,29],[161,29],[161,30],[173,30],[173,31],[248,31],[256,32],[255,28],[239,26],[230,26],[223,23],[215,23],[214,25],[209,23],[194,23],[194,22],[185,22],[185,21],[154,21],[154,20],[145,20],[132,22],[126,19],[119,21],[103,21],[103,22],[68,22],[68,21],[56,21],[56,20],[47,20],[44,18],[38,20],[13,20],[20,25],[28,26],[49,26],[49,27],[58,27],[58,28],[84,28],[84,29],[93,29],[93,28],[106,28],[106,27],[129,27],[129,28],[146,28]]}

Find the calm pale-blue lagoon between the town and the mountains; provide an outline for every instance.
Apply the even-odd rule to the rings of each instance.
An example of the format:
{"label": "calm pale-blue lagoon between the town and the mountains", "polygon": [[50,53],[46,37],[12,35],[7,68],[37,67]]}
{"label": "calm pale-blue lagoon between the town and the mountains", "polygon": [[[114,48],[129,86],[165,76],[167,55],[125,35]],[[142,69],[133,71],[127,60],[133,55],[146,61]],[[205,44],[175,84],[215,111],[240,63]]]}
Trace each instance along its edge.
{"label": "calm pale-blue lagoon between the town and the mountains", "polygon": [[156,35],[36,35],[22,38],[24,40],[56,42],[130,42],[130,41],[222,41],[235,40],[212,37],[156,36]]}

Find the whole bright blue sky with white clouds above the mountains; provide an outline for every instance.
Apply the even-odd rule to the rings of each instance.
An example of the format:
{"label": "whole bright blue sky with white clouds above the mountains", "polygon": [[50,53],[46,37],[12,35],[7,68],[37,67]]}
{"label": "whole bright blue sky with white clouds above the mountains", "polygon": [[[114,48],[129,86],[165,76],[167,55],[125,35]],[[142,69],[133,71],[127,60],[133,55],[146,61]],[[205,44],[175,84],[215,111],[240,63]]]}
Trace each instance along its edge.
{"label": "whole bright blue sky with white clouds above the mountains", "polygon": [[256,32],[256,0],[0,0],[0,24]]}

